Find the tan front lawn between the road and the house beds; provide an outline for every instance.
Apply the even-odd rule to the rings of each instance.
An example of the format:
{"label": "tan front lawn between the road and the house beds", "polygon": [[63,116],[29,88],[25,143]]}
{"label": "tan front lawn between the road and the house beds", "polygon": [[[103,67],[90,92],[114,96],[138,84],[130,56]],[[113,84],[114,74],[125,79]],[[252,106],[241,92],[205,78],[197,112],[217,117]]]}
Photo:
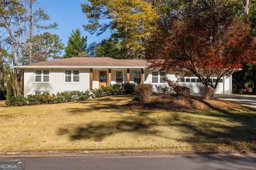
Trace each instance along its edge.
{"label": "tan front lawn between the road and the house beds", "polygon": [[0,151],[256,150],[252,109],[170,112],[120,107],[133,97],[2,107]]}

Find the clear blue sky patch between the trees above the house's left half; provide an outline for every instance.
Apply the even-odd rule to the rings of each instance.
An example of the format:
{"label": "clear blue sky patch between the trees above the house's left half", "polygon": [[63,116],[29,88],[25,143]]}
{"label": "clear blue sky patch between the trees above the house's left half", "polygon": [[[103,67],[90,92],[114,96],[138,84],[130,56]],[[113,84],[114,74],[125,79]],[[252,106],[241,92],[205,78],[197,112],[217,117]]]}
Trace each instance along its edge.
{"label": "clear blue sky patch between the trees above the house's left half", "polygon": [[[100,36],[91,35],[84,31],[82,25],[88,24],[88,19],[82,13],[80,4],[88,3],[87,0],[38,0],[39,6],[45,10],[51,18],[49,23],[56,22],[58,28],[47,30],[51,34],[60,36],[62,42],[67,45],[68,37],[72,30],[79,28],[82,36],[87,36],[87,44],[91,42],[101,42],[110,36],[109,32],[105,32]],[[46,22],[48,23],[48,22]]]}

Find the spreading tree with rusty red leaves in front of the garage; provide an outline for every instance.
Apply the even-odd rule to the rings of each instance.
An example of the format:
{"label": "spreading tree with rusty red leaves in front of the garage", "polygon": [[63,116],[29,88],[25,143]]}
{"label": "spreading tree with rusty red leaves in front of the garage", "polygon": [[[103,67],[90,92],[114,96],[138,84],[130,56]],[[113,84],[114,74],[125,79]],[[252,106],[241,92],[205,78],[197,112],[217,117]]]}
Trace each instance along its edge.
{"label": "spreading tree with rusty red leaves in front of the garage", "polygon": [[216,89],[221,77],[242,68],[242,62],[252,62],[256,41],[250,23],[228,9],[226,2],[217,0],[176,13],[172,24],[160,27],[148,42],[151,67],[195,75],[204,86]]}

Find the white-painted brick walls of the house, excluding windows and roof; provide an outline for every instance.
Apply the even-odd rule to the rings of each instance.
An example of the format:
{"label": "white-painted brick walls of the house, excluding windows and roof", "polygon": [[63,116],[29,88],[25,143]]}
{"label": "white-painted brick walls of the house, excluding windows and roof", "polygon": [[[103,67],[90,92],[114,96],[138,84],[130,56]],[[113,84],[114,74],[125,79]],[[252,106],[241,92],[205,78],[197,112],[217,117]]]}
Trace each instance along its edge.
{"label": "white-painted brick walls of the house, excluding windows and roof", "polygon": [[[29,94],[35,94],[35,91],[49,92],[50,94],[56,94],[63,91],[86,91],[90,86],[90,73],[89,69],[72,69],[80,71],[79,82],[65,82],[65,70],[71,69],[37,69],[37,70],[49,70],[49,82],[35,82],[36,69],[26,69],[24,72],[24,97]],[[99,71],[107,71],[108,69],[93,69],[93,82],[92,88],[99,88]],[[111,70],[111,84],[116,83],[116,71],[123,71],[123,81],[127,81],[126,69],[112,69]],[[130,69],[130,83],[134,83],[134,71],[141,71],[140,69]],[[167,75],[169,79],[176,80],[175,74],[170,73]],[[186,77],[185,77],[186,78]],[[193,77],[197,78],[197,77]],[[232,76],[224,76],[223,82],[218,84],[216,94],[230,94]],[[152,83],[152,70],[144,71],[144,83],[152,84],[154,91],[161,89],[160,87],[166,87],[166,83]],[[184,85],[190,88],[191,93],[199,93],[199,88],[202,83],[187,83],[180,82],[180,85]]]}

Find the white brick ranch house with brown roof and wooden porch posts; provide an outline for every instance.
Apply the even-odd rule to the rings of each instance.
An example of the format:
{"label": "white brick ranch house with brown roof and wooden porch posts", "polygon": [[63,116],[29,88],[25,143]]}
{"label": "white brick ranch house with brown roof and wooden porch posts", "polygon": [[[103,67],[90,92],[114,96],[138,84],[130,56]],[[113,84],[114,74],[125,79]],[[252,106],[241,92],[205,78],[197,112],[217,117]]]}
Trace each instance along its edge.
{"label": "white brick ranch house with brown roof and wooden porch posts", "polygon": [[[168,86],[162,80],[163,76],[176,80],[174,73],[147,69],[145,60],[110,57],[72,57],[16,67],[24,70],[24,97],[29,94],[86,91],[115,83],[148,83],[153,85],[154,91],[160,91]],[[215,80],[213,77],[212,81]],[[197,77],[184,77],[179,83],[189,87],[191,93],[198,93],[198,87],[202,86]],[[215,93],[231,94],[231,90],[232,75],[225,75]]]}

